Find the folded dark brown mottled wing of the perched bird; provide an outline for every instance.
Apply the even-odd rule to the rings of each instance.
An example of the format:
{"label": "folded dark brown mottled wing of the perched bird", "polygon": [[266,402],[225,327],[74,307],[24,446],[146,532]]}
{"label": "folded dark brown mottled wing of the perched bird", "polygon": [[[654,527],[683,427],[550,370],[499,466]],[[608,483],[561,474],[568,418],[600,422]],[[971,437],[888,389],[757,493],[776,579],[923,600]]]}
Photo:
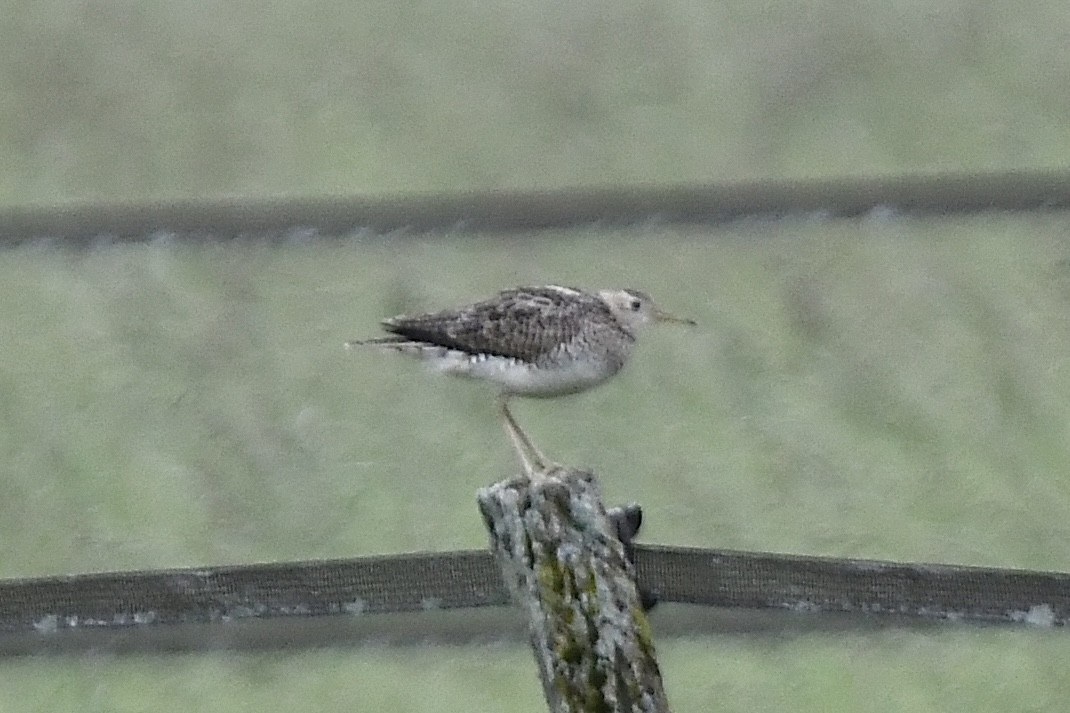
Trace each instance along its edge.
{"label": "folded dark brown mottled wing of the perched bird", "polygon": [[584,317],[599,309],[601,301],[580,290],[517,288],[460,309],[393,317],[383,328],[416,343],[537,363],[575,339]]}

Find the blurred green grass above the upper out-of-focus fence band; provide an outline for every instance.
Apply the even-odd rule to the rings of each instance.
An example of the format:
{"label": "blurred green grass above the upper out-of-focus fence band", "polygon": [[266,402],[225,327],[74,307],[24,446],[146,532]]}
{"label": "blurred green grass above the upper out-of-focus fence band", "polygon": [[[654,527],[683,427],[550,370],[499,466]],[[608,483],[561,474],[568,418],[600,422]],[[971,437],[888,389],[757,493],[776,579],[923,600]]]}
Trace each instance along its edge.
{"label": "blurred green grass above the upper out-of-focus fence band", "polygon": [[1057,0],[0,13],[0,204],[1070,163]]}

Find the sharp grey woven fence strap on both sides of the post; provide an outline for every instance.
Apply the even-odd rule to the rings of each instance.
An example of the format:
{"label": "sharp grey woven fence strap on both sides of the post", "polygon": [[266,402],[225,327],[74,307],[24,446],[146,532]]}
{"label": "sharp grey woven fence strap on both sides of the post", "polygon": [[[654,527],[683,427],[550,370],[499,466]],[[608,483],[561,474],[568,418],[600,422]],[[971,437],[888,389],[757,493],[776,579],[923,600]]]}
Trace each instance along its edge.
{"label": "sharp grey woven fence strap on both sides of the post", "polygon": [[[651,545],[636,545],[636,567],[659,603],[1039,626],[1070,617],[1064,573]],[[0,580],[0,650],[28,634],[505,606],[500,577],[489,552],[465,550]]]}

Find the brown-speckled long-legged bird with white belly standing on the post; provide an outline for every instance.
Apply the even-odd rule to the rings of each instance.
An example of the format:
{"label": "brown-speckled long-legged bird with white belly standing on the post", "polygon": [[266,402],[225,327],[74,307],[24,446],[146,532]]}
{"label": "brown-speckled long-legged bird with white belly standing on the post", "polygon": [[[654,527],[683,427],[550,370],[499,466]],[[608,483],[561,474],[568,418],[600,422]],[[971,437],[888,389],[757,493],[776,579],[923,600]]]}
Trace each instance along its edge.
{"label": "brown-speckled long-legged bird with white belly standing on the post", "polygon": [[639,330],[651,322],[696,324],[662,312],[638,289],[517,287],[463,307],[389,317],[381,322],[388,336],[346,347],[410,354],[437,371],[494,384],[502,424],[531,479],[563,467],[535,446],[509,399],[553,398],[603,383],[628,362]]}

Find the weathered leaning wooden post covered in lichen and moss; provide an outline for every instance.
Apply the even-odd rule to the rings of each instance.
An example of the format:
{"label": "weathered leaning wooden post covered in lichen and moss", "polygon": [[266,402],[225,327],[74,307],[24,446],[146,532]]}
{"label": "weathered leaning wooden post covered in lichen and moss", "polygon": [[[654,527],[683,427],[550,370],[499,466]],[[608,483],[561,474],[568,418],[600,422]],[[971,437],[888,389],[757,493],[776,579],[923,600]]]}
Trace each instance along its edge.
{"label": "weathered leaning wooden post covered in lichen and moss", "polygon": [[668,711],[635,568],[594,475],[561,469],[504,481],[478,500],[550,709]]}

